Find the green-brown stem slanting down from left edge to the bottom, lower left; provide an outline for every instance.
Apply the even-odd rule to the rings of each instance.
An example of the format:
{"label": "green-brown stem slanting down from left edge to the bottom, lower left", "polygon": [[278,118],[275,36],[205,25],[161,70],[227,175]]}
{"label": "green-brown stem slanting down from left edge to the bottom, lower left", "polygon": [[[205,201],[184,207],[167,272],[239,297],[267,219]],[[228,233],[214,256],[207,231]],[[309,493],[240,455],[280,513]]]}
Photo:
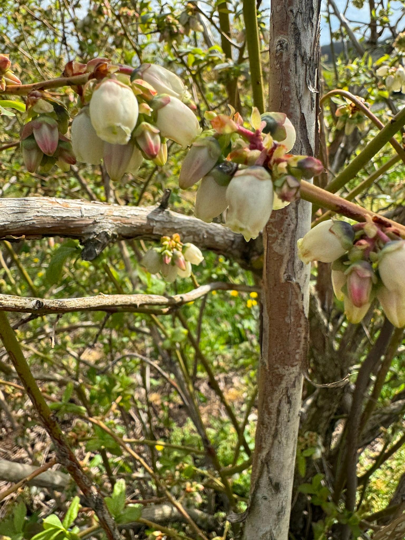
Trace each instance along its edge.
{"label": "green-brown stem slanting down from left edge to the bottom, lower left", "polygon": [[52,414],[51,409],[40,392],[37,383],[30,371],[24,354],[17,341],[14,330],[11,328],[5,312],[0,311],[0,339],[4,348],[9,354],[10,360],[23,383],[26,393],[37,411],[40,421],[48,431],[53,444],[55,445],[59,463],[62,464],[75,480],[76,484],[82,490],[87,502],[93,508],[99,518],[100,525],[106,532],[110,540],[120,540],[120,534],[117,525],[114,523],[110,512],[104,503],[104,499],[98,489],[93,485],[85,475],[82,467],[73,454],[71,448],[65,440],[62,429]]}

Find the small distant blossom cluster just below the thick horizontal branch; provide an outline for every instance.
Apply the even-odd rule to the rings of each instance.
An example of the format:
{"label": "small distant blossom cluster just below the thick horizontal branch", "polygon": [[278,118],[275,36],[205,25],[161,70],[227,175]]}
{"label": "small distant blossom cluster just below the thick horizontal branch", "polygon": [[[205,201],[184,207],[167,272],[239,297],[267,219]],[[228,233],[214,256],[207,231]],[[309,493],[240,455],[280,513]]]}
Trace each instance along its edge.
{"label": "small distant blossom cluster just below the thick horizontal branch", "polygon": [[180,235],[161,237],[160,246],[147,251],[141,264],[151,274],[160,273],[168,282],[177,277],[190,278],[191,265],[199,265],[204,260],[203,254],[194,244],[182,244]]}

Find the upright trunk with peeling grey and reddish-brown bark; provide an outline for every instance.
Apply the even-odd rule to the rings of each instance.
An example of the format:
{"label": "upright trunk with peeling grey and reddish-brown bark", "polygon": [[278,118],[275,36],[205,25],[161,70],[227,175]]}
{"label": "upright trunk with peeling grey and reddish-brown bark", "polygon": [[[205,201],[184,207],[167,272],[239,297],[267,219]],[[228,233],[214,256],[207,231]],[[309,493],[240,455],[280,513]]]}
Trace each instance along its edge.
{"label": "upright trunk with peeling grey and reddish-brown bark", "polygon": [[[269,111],[296,130],[295,154],[316,155],[320,0],[272,0]],[[310,227],[311,205],[274,212],[264,232],[259,417],[245,540],[287,540],[308,341],[309,265],[296,241]]]}

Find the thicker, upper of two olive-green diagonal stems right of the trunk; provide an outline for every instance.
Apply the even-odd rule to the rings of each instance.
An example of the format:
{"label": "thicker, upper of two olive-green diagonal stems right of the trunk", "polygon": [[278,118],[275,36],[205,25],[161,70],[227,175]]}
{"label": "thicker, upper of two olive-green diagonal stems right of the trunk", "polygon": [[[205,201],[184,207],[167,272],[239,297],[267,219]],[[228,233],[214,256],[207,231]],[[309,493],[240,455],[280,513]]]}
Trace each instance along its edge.
{"label": "thicker, upper of two olive-green diagonal stems right of the trunk", "polygon": [[352,180],[361,170],[361,168],[372,160],[375,154],[388,143],[389,139],[392,138],[403,125],[405,125],[405,107],[403,107],[403,109],[396,114],[396,116],[394,116],[394,118],[390,120],[385,127],[383,127],[380,133],[376,134],[365,149],[358,156],[356,156],[353,161],[351,161],[349,165],[343,169],[340,174],[338,174],[338,176],[329,182],[329,184],[326,186],[326,191],[335,193],[350,180]]}

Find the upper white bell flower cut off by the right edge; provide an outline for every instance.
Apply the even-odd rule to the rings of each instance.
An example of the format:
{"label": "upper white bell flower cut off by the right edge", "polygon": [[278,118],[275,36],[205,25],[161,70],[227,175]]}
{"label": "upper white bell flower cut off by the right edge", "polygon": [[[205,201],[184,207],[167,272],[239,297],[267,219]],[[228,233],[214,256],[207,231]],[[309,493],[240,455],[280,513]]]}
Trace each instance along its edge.
{"label": "upper white bell flower cut off by the right edge", "polygon": [[405,240],[388,242],[380,252],[380,278],[389,291],[405,294]]}

